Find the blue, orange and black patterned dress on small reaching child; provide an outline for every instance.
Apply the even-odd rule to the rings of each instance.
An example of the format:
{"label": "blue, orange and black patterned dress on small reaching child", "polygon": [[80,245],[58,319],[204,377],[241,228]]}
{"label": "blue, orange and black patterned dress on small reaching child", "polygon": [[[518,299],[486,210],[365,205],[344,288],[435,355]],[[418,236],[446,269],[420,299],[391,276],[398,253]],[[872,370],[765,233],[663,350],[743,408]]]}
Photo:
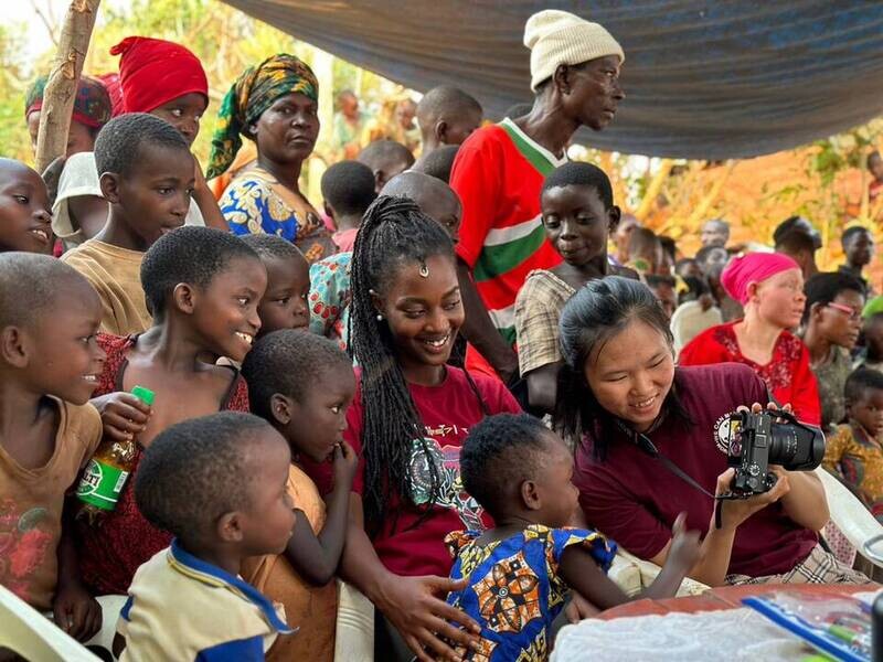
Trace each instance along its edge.
{"label": "blue, orange and black patterned dress on small reaching child", "polygon": [[480,531],[450,533],[445,542],[457,556],[450,576],[469,586],[448,595],[448,604],[481,626],[477,650],[457,653],[472,662],[534,662],[549,659],[549,629],[564,608],[568,587],[558,563],[571,545],[585,545],[606,573],[616,543],[585,528],[549,528],[541,524],[488,545]]}

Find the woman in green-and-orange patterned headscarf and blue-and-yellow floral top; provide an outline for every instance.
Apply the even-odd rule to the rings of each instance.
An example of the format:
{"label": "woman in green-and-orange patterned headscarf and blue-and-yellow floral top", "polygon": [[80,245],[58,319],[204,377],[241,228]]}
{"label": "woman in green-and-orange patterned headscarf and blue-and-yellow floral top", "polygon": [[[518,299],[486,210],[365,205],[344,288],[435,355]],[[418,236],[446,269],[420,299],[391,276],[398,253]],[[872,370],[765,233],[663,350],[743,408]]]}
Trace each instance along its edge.
{"label": "woman in green-and-orange patterned headscarf and blue-and-yellow floral top", "polygon": [[257,160],[236,173],[221,196],[221,213],[237,235],[275,234],[312,264],[337,253],[331,233],[298,189],[304,161],[319,136],[319,83],[294,55],[268,57],[240,75],[221,104],[208,179],[223,174],[254,141]]}

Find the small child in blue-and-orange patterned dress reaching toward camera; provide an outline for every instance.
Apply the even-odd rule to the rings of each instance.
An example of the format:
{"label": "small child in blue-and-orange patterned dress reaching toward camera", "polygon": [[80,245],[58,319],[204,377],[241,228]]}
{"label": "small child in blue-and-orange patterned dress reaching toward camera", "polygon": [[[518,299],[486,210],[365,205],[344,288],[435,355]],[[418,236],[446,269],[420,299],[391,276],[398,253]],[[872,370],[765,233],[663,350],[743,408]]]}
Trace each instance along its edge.
{"label": "small child in blue-and-orange patterned dress reaching toward camera", "polygon": [[[476,650],[464,660],[545,660],[550,628],[575,588],[598,609],[629,598],[607,578],[616,544],[568,524],[579,492],[571,482],[573,457],[561,438],[526,414],[491,416],[475,426],[460,452],[464,488],[493,517],[493,528],[454,532],[451,578],[467,588],[448,602],[481,624]],[[659,576],[639,598],[673,597],[700,557],[699,532],[687,533],[682,513]],[[492,577],[492,579],[491,579]],[[498,586],[519,587],[510,596]]]}

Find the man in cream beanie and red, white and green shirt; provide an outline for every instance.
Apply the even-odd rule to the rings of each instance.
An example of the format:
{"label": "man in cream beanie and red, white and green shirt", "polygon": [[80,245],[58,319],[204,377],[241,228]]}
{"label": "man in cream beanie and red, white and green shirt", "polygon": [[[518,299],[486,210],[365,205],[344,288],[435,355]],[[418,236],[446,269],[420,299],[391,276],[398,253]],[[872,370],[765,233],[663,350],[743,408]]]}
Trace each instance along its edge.
{"label": "man in cream beanie and red, white and green shirt", "polygon": [[462,202],[457,255],[462,333],[471,344],[467,365],[496,372],[510,385],[519,372],[515,295],[533,269],[561,261],[540,218],[543,180],[566,162],[576,130],[603,130],[625,98],[625,54],[603,25],[566,11],[540,11],[528,19],[524,45],[531,51],[533,108],[474,132],[450,179]]}

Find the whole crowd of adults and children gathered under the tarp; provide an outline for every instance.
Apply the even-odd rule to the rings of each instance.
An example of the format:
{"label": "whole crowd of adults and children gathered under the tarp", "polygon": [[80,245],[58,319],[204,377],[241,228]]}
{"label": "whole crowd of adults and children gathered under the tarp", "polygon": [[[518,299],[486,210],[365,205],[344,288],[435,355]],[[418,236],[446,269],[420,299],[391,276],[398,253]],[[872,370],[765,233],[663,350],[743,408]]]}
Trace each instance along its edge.
{"label": "whole crowd of adults and children gathered under the tarp", "polygon": [[[731,416],[773,405],[883,517],[873,233],[834,273],[800,216],[752,249],[709,220],[684,255],[566,156],[626,98],[616,39],[547,10],[524,45],[533,105],[498,122],[440,86],[390,131],[341,93],[322,204],[320,82],[289,54],[232,84],[205,168],[203,66],[143,36],[79,81],[45,181],[0,159],[0,584],[81,641],[110,623],[106,659],[321,662],[337,579],[376,659],[477,661],[630,599],[618,547],[661,567],[646,597],[869,581],[812,472],[716,522],[712,495]],[[85,516],[108,445],[116,503]]]}

